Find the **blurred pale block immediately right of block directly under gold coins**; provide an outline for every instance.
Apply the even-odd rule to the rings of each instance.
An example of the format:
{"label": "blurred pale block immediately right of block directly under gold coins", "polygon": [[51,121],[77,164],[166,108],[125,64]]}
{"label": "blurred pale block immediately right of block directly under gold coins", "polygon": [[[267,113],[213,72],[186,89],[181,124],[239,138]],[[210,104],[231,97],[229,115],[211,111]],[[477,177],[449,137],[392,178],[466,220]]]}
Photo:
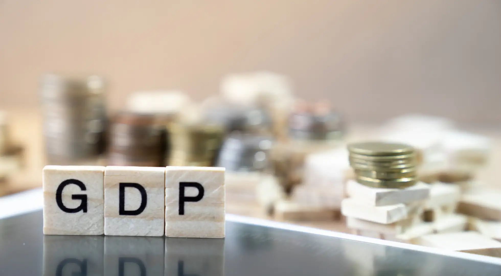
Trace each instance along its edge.
{"label": "blurred pale block immediately right of block directly under gold coins", "polygon": [[424,202],[425,210],[450,206],[452,209],[460,198],[460,188],[454,184],[433,183],[429,198]]}

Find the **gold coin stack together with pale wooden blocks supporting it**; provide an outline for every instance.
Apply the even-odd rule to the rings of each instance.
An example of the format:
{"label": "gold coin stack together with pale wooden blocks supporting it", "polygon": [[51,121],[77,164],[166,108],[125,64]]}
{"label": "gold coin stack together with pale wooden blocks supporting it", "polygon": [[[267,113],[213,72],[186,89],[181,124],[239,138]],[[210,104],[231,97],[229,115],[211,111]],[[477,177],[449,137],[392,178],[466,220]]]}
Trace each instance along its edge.
{"label": "gold coin stack together with pale wooden blocks supporting it", "polygon": [[412,242],[433,231],[422,224],[428,184],[416,181],[416,153],[399,143],[363,142],[348,145],[355,180],[341,202],[347,226],[356,234]]}

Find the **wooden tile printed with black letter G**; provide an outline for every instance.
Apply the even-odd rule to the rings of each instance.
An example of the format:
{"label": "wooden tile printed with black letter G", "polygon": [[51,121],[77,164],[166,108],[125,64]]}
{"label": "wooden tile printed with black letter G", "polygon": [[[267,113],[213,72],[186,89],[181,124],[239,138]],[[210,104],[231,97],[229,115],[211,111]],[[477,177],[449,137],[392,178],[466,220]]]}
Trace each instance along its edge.
{"label": "wooden tile printed with black letter G", "polygon": [[104,234],[101,166],[45,166],[44,234]]}

